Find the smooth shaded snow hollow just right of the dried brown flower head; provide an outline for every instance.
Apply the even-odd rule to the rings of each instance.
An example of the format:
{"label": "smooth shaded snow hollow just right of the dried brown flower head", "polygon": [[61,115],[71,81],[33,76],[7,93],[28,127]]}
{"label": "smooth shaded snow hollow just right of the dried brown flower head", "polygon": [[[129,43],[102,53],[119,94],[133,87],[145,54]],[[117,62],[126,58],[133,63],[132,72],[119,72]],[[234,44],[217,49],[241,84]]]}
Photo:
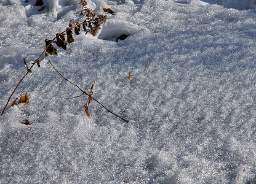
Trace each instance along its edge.
{"label": "smooth shaded snow hollow just right of the dried brown flower head", "polygon": [[140,26],[128,23],[124,20],[108,20],[102,27],[102,32],[98,35],[98,39],[116,41],[122,34],[135,34],[141,31]]}

